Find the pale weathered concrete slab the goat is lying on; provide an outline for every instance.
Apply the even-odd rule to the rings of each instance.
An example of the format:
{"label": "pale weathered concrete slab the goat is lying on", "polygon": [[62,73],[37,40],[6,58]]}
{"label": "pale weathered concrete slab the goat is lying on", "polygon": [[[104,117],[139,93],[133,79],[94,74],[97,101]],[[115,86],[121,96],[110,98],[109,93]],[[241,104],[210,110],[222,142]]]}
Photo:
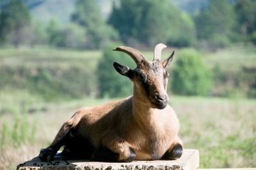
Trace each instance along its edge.
{"label": "pale weathered concrete slab the goat is lying on", "polygon": [[41,162],[38,157],[19,164],[18,170],[30,169],[172,169],[172,170],[194,170],[199,166],[198,150],[184,150],[182,157],[177,160],[154,160],[154,161],[134,161],[129,163],[109,163],[109,162],[88,162],[82,160],[61,160],[61,157],[54,157],[54,161]]}

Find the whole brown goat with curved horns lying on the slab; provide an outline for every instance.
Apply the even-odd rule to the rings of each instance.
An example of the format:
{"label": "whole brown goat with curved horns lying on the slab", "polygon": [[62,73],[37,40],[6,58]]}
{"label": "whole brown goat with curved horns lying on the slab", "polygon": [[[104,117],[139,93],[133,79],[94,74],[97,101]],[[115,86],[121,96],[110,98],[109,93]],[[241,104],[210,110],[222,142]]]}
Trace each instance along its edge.
{"label": "whole brown goat with curved horns lying on the slab", "polygon": [[79,109],[62,125],[52,144],[40,151],[39,158],[53,160],[61,146],[65,146],[60,153],[65,159],[131,162],[181,157],[179,120],[166,93],[174,51],[161,62],[165,47],[163,43],[156,45],[153,61],[131,47],[113,49],[131,56],[137,65],[132,70],[113,63],[118,73],[133,82],[133,96]]}

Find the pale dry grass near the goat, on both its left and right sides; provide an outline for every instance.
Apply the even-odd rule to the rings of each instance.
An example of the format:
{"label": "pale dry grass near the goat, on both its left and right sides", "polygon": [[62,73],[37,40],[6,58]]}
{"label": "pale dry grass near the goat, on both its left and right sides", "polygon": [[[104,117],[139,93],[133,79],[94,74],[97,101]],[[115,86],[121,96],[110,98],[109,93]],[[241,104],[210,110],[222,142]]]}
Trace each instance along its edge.
{"label": "pale dry grass near the goat, on both its left and right sides", "polygon": [[[185,148],[200,150],[200,167],[256,167],[255,100],[172,97],[170,104],[180,119],[180,136]],[[8,135],[0,154],[0,169],[15,169],[19,163],[36,157],[40,148],[51,143],[61,124],[79,107],[102,104],[106,100],[76,100],[45,104],[47,111],[31,114],[28,125],[36,123],[35,141],[13,144]],[[13,116],[2,115],[0,127]],[[6,139],[7,140],[7,139]],[[0,138],[1,141],[1,138]]]}

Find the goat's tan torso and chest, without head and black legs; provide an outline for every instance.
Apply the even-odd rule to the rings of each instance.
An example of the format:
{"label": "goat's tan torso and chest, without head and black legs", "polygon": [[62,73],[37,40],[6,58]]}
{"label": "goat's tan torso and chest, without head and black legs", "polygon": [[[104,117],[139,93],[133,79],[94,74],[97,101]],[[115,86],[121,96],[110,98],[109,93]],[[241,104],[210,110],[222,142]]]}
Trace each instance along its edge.
{"label": "goat's tan torso and chest, without head and black legs", "polygon": [[[136,120],[132,107],[132,97],[129,97],[97,107],[79,109],[66,122],[71,127],[68,133],[74,139],[78,136],[81,140],[82,137],[89,141],[88,144],[92,144],[78,148],[109,148],[109,145],[118,148],[123,147],[122,144],[128,144],[135,151],[136,160],[159,159],[170,146],[180,143],[177,135],[179,121],[172,107],[167,105],[162,110],[151,109],[150,112],[144,112],[143,121],[140,118],[140,121]],[[121,146],[117,146],[118,144]]]}

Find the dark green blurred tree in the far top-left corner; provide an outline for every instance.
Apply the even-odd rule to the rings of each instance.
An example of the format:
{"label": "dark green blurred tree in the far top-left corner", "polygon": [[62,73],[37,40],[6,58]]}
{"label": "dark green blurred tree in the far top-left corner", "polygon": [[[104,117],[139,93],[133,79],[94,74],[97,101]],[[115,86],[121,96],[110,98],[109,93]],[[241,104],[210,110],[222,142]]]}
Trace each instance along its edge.
{"label": "dark green blurred tree in the far top-left corner", "polygon": [[31,17],[19,0],[10,0],[0,13],[0,41],[15,47],[28,40]]}

